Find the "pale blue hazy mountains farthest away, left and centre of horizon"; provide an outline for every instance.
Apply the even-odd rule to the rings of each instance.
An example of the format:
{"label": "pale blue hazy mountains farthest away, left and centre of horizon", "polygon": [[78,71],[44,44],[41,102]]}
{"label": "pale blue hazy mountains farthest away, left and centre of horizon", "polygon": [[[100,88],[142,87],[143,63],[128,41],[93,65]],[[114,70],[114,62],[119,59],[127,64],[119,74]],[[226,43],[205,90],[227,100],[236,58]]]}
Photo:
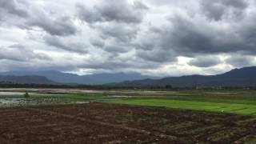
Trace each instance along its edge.
{"label": "pale blue hazy mountains farthest away, left and centre of horizon", "polygon": [[[87,85],[102,85],[111,82],[123,82],[123,81],[133,81],[138,79],[150,78],[149,76],[143,76],[142,74],[125,74],[125,73],[115,73],[115,74],[69,74],[62,73],[56,70],[46,70],[46,71],[10,71],[2,72],[0,75],[15,75],[15,76],[25,76],[25,75],[38,75],[44,76],[54,82],[66,83],[66,84],[87,84]],[[151,77],[152,78],[152,77]]]}

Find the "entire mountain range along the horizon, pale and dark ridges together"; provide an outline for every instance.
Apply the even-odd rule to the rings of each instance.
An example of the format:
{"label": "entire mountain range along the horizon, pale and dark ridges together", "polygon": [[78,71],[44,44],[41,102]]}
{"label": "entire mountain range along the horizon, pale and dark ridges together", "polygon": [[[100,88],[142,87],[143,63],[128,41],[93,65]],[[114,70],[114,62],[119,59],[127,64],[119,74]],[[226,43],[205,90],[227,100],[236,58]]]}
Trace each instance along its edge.
{"label": "entire mountain range along the horizon, pale and dark ridges together", "polygon": [[34,84],[86,84],[105,86],[256,86],[256,66],[217,75],[189,75],[153,78],[142,74],[69,74],[56,70],[10,71],[0,73],[0,82]]}

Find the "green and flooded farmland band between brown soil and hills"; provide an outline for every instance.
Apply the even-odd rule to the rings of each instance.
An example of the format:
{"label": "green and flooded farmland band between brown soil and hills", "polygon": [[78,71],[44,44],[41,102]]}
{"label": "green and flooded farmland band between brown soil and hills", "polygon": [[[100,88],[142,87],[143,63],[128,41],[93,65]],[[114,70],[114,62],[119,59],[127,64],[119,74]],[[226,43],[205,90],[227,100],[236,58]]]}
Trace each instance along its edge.
{"label": "green and flooded farmland band between brown soil and hills", "polygon": [[[30,98],[24,98],[29,91]],[[136,106],[161,106],[217,113],[256,114],[256,92],[236,91],[143,91],[143,90],[6,90],[0,106],[42,106],[87,102],[110,102]]]}

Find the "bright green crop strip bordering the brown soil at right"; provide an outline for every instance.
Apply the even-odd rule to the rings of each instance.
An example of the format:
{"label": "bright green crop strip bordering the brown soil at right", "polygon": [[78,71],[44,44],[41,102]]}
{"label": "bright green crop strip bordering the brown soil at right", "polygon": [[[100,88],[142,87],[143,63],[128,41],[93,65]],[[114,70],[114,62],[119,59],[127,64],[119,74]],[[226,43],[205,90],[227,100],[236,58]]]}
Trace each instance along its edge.
{"label": "bright green crop strip bordering the brown soil at right", "polygon": [[127,104],[136,106],[164,106],[186,110],[205,110],[221,113],[255,115],[256,106],[236,103],[217,103],[217,102],[190,102],[182,100],[168,99],[126,99],[117,100],[111,103]]}

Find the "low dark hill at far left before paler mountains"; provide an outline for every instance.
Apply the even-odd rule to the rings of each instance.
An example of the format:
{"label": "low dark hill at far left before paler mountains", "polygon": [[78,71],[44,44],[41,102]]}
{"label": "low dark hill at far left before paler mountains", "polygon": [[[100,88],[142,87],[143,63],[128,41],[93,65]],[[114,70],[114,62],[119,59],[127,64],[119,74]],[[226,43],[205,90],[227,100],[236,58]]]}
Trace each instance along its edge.
{"label": "low dark hill at far left before paler mountains", "polygon": [[3,75],[3,76],[0,76],[0,83],[46,84],[46,85],[58,84],[56,82],[50,81],[46,77],[35,76],[35,75],[31,75],[31,76]]}

